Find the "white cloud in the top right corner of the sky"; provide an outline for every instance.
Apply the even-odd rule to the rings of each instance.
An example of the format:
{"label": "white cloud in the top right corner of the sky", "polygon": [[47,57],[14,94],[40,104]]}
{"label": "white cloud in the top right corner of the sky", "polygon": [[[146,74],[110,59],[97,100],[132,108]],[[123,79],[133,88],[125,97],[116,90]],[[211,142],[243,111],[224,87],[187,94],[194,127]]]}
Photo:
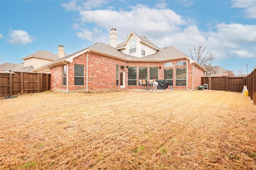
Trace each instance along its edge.
{"label": "white cloud in the top right corner of the sky", "polygon": [[256,18],[256,1],[255,0],[233,0],[233,8],[244,8],[246,18]]}

